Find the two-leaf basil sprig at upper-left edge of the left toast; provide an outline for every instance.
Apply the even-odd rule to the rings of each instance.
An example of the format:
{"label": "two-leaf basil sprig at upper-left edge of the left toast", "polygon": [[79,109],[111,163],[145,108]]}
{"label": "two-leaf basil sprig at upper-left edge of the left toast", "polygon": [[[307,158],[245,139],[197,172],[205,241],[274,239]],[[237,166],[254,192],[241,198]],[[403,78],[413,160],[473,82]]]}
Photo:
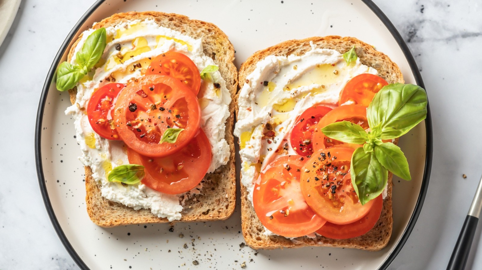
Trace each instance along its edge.
{"label": "two-leaf basil sprig at upper-left edge of the left toast", "polygon": [[57,69],[56,87],[59,91],[74,88],[74,86],[99,62],[106,49],[107,32],[102,27],[95,30],[85,40],[82,49],[76,54],[77,64],[62,62]]}

